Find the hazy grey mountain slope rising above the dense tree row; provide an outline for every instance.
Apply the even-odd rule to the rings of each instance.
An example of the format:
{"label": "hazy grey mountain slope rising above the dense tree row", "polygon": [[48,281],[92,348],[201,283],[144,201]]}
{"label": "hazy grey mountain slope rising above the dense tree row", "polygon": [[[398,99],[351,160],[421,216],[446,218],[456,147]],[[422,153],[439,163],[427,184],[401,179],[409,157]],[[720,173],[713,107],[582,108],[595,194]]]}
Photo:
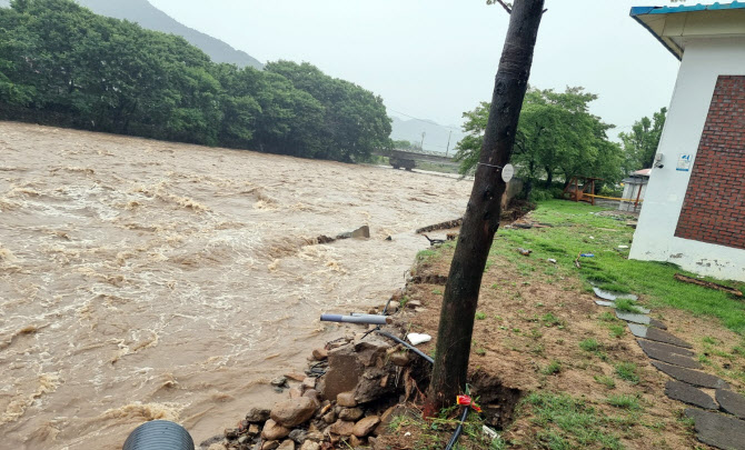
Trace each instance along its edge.
{"label": "hazy grey mountain slope rising above the dense tree row", "polygon": [[[264,64],[245,51],[236,50],[226,42],[179,23],[147,0],[76,0],[97,14],[127,19],[148,30],[162,31],[182,37],[200,48],[215,62],[229,62],[238,67],[262,69]],[[0,7],[10,6],[9,0],[0,0]]]}

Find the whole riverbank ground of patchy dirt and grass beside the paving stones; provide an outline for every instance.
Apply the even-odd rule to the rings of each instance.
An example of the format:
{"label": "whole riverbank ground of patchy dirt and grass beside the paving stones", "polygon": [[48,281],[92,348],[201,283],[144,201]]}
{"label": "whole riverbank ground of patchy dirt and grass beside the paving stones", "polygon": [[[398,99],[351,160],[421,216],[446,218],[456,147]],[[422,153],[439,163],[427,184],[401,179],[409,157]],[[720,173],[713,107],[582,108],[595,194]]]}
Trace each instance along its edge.
{"label": "whole riverbank ground of patchy dirt and grass beside the paving stones", "polygon": [[[613,310],[595,304],[590,281],[638,294],[653,318],[694,346],[704,371],[745,392],[745,304],[676,281],[673,274],[685,272],[673,264],[628,260],[623,246],[630,247],[634,230],[627,220],[583,203],[546,201],[522,220],[533,228],[497,233],[470,357],[473,379],[498,381],[491,391],[477,392],[483,407],[496,408],[508,423],[504,440],[491,448],[708,448],[693,437],[685,406],[663,394],[668,378],[650,366]],[[517,248],[533,252],[525,257]],[[417,274],[446,276],[454,249],[448,242],[420,252]],[[421,304],[413,331],[437,334],[444,288],[409,287],[406,300]],[[495,392],[519,396],[507,401]],[[399,423],[397,432],[410,431],[416,448],[447,440],[423,423]]]}

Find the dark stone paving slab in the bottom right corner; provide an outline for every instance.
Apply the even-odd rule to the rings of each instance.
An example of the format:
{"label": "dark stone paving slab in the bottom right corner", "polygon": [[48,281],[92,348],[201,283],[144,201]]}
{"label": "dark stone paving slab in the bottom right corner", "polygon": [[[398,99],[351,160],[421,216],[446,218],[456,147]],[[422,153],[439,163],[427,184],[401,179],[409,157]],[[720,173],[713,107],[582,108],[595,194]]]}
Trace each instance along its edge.
{"label": "dark stone paving slab in the bottom right corner", "polygon": [[744,421],[701,409],[686,409],[685,414],[694,420],[699,441],[723,450],[745,450]]}

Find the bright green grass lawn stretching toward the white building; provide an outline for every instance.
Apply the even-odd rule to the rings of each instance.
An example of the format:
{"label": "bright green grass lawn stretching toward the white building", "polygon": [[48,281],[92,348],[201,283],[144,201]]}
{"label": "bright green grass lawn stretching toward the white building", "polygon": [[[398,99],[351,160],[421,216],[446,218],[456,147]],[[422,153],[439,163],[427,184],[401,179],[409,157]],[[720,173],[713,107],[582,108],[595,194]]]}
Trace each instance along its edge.
{"label": "bright green grass lawn stretching toward the white building", "polygon": [[[587,290],[590,282],[602,289],[632,292],[643,297],[645,306],[668,306],[696,316],[717,318],[726,328],[745,336],[745,301],[727,293],[684,283],[673,278],[676,272],[694,276],[667,262],[629,260],[628,249],[634,229],[620,217],[598,216],[606,209],[563,200],[538,203],[533,219],[552,228],[500,229],[494,240],[491,254],[518,264],[520,272],[554,277],[579,276]],[[530,257],[516,251],[532,249]],[[579,253],[594,253],[579,258]],[[557,260],[556,264],[547,259]],[[743,290],[745,283],[708,279]]]}

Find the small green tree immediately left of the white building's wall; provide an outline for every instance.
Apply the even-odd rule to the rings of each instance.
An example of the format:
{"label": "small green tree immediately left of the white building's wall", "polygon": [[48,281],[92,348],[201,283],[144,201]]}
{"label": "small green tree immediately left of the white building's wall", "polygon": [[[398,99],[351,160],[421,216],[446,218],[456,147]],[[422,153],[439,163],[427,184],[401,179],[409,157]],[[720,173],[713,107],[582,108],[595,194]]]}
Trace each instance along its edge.
{"label": "small green tree immediately left of the white building's wall", "polygon": [[659,138],[663,134],[666,114],[667,108],[662,108],[652,116],[652,120],[643,117],[634,122],[632,131],[618,134],[626,153],[624,161],[626,173],[652,167],[659,146]]}

